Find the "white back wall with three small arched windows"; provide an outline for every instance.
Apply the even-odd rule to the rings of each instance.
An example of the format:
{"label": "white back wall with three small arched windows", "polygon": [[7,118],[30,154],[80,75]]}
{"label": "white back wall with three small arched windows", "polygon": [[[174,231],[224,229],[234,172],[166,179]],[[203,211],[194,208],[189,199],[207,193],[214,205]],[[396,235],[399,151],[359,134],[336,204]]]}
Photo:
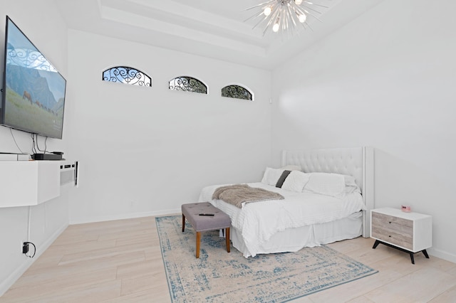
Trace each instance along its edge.
{"label": "white back wall with three small arched windows", "polygon": [[[271,159],[270,72],[73,30],[68,63],[69,158],[81,164],[71,223],[176,213],[203,186],[261,180]],[[102,81],[115,65],[150,75],[152,87]],[[209,93],[169,90],[180,75]],[[220,97],[231,83],[254,102]]]}

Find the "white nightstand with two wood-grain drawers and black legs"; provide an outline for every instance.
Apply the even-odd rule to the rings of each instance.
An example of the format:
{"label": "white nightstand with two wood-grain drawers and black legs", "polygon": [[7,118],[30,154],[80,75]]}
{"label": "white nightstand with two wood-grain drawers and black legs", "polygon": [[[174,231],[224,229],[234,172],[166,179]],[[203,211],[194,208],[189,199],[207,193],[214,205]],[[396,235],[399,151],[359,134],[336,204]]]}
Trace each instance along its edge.
{"label": "white nightstand with two wood-grain drawers and black legs", "polygon": [[372,248],[382,243],[410,254],[423,252],[432,246],[432,216],[421,213],[405,213],[396,208],[371,210],[371,238],[375,239]]}

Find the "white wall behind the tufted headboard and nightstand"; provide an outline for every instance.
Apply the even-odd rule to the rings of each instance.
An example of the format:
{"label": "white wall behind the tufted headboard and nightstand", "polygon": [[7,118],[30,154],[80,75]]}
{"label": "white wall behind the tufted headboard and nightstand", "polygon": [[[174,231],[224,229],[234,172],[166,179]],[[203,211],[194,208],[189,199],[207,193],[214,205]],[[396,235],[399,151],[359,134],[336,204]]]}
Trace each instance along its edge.
{"label": "white wall behind the tufted headboard and nightstand", "polygon": [[273,73],[282,148],[375,147],[375,206],[433,217],[456,262],[456,2],[382,1]]}

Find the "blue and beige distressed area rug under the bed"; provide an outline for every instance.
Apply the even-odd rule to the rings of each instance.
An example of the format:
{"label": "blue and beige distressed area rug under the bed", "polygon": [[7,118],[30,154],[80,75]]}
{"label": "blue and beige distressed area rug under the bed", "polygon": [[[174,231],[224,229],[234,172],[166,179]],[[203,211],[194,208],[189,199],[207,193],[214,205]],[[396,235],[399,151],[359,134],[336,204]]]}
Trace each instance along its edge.
{"label": "blue and beige distressed area rug under the bed", "polygon": [[172,302],[286,302],[378,272],[325,245],[245,258],[217,230],[202,233],[197,259],[192,225],[155,220]]}

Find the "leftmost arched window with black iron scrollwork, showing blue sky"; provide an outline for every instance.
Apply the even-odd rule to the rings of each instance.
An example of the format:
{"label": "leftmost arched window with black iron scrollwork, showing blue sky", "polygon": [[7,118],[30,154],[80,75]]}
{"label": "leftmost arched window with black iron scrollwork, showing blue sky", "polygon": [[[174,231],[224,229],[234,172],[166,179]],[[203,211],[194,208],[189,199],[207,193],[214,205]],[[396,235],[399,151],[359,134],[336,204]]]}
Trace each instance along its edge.
{"label": "leftmost arched window with black iron scrollwork, showing blue sky", "polygon": [[152,78],[135,68],[115,66],[103,72],[103,81],[118,82],[138,86],[151,86]]}

